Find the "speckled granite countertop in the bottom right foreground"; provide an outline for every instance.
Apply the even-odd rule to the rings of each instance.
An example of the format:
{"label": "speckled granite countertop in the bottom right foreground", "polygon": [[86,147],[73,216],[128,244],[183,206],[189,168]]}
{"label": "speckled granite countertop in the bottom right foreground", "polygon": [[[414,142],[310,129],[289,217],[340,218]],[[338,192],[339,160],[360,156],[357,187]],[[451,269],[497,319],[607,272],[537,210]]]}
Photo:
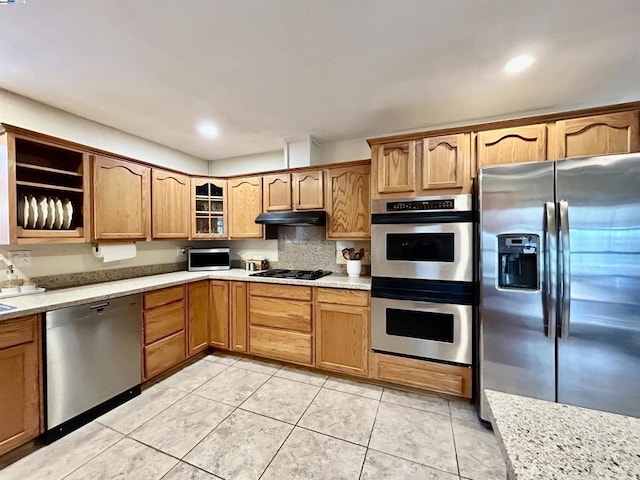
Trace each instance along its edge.
{"label": "speckled granite countertop in the bottom right foreground", "polygon": [[511,480],[640,479],[640,419],[485,390]]}

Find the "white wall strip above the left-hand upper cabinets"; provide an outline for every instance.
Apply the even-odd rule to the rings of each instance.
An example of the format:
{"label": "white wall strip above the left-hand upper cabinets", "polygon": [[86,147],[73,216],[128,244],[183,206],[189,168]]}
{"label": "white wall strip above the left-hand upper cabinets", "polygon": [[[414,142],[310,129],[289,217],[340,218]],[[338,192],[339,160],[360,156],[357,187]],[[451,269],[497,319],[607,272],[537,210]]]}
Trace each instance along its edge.
{"label": "white wall strip above the left-hand upper cabinets", "polygon": [[154,165],[205,174],[209,162],[0,89],[0,122]]}

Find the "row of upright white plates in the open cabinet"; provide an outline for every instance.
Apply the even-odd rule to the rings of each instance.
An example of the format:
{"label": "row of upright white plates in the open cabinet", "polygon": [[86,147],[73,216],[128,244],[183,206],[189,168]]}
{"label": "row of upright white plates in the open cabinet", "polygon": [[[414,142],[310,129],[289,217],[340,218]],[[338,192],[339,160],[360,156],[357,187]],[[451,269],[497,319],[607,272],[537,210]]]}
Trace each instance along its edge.
{"label": "row of upright white plates in the open cabinet", "polygon": [[73,222],[73,204],[68,198],[38,198],[21,195],[18,200],[18,225],[41,230],[68,230]]}

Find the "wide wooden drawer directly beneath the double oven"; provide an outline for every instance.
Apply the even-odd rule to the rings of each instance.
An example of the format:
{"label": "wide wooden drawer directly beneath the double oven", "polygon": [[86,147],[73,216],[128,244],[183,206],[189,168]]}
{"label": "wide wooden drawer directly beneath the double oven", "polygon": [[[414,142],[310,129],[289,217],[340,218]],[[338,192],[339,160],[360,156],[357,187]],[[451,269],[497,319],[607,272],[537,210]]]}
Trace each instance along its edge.
{"label": "wide wooden drawer directly beneath the double oven", "polygon": [[373,378],[471,398],[471,367],[371,354]]}

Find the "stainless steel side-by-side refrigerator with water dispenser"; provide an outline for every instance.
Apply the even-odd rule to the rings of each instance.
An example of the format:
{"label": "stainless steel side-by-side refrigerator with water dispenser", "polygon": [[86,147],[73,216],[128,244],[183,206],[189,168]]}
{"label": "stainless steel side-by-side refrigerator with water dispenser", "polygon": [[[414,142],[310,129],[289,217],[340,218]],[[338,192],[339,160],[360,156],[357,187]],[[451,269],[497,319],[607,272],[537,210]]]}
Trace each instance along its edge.
{"label": "stainless steel side-by-side refrigerator with water dispenser", "polygon": [[640,154],[483,168],[479,208],[480,392],[640,417]]}

